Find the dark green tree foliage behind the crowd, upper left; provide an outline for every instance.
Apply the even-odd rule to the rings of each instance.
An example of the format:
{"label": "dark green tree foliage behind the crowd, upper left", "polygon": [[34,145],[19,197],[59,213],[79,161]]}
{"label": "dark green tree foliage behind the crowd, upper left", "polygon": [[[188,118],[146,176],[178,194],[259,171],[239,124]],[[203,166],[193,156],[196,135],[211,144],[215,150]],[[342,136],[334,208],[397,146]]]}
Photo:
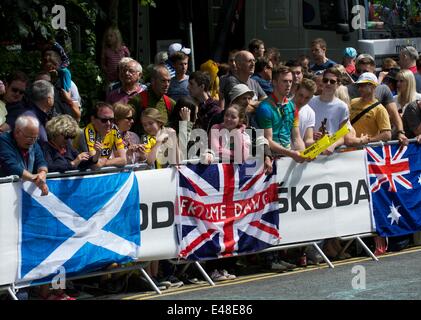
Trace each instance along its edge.
{"label": "dark green tree foliage behind the crowd, upper left", "polygon": [[[153,0],[138,0],[155,7]],[[1,0],[0,1],[0,79],[14,70],[31,78],[40,70],[41,49],[47,41],[56,40],[70,57],[72,79],[79,88],[85,112],[103,98],[103,75],[97,65],[96,22],[116,21],[119,0]],[[65,9],[66,30],[56,30],[52,20],[55,5]],[[75,35],[82,46],[76,52]]]}

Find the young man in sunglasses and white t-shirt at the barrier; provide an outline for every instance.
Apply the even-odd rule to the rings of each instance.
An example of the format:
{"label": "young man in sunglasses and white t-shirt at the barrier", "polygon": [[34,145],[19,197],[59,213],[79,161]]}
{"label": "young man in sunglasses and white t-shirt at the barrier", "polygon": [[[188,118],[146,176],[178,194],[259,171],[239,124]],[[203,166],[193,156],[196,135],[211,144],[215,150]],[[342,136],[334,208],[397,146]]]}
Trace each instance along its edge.
{"label": "young man in sunglasses and white t-shirt at the barrier", "polygon": [[[339,69],[332,67],[325,70],[322,78],[321,95],[313,97],[308,103],[316,115],[316,126],[313,133],[314,140],[318,140],[323,136],[322,128],[326,129],[329,134],[334,134],[349,119],[348,105],[335,96],[336,90],[340,85],[340,78],[341,72]],[[339,139],[324,151],[324,154],[332,154],[335,148],[343,143],[344,139]]]}

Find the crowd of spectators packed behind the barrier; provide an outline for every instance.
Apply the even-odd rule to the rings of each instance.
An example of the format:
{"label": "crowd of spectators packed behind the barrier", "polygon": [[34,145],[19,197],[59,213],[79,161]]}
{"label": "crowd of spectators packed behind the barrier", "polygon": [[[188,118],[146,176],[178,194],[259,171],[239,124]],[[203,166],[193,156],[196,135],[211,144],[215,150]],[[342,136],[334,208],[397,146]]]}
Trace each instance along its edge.
{"label": "crowd of spectators packed behind the barrier", "polygon": [[[248,50],[230,52],[225,64],[209,60],[189,73],[191,50],[175,43],[148,67],[145,83],[141,64],[130,57],[119,31],[109,28],[101,60],[106,99],[89,110],[82,127],[77,80],[67,55],[52,44],[42,53],[33,82],[16,71],[0,83],[0,173],[32,181],[45,195],[48,172],[136,163],[159,169],[194,157],[242,163],[257,146],[264,150],[264,170],[271,172],[274,156],[313,160],[301,151],[344,125],[349,133],[324,155],[344,145],[421,140],[416,49],[404,48],[398,61],[385,59],[378,74],[374,58],[354,48],[344,48],[338,64],[327,58],[323,39],[310,47],[311,57],[282,61],[279,50],[266,50],[263,41],[253,39]],[[246,128],[261,129],[263,136],[251,137]],[[198,144],[194,129],[209,139]],[[375,244],[376,254],[387,250],[385,239]],[[324,250],[333,259],[348,256],[335,239],[325,241]],[[263,260],[267,268],[286,271],[303,265],[303,254],[308,263],[320,262],[311,250],[295,258],[271,253]],[[235,268],[227,270],[232,264],[209,265],[215,281],[235,278]],[[171,272],[160,281],[157,263],[148,270],[161,287],[180,283]]]}

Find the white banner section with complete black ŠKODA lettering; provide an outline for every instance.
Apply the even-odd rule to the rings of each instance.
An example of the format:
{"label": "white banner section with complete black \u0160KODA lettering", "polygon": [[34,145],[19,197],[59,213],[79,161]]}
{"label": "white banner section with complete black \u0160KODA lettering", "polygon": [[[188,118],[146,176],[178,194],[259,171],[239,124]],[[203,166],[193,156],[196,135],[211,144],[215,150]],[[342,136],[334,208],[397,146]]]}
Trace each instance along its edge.
{"label": "white banner section with complete black \u0160KODA lettering", "polygon": [[365,151],[277,162],[281,244],[373,231]]}

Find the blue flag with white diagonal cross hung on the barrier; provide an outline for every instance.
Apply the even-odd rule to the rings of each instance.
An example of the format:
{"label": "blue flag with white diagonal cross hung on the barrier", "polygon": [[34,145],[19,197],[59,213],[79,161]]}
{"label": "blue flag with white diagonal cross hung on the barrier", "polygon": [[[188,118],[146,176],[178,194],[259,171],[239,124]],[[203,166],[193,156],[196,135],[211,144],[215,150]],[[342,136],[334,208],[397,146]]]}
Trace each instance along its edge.
{"label": "blue flag with white diagonal cross hung on the barrier", "polygon": [[47,180],[41,196],[25,182],[19,279],[92,271],[132,261],[140,246],[140,209],[133,172]]}

